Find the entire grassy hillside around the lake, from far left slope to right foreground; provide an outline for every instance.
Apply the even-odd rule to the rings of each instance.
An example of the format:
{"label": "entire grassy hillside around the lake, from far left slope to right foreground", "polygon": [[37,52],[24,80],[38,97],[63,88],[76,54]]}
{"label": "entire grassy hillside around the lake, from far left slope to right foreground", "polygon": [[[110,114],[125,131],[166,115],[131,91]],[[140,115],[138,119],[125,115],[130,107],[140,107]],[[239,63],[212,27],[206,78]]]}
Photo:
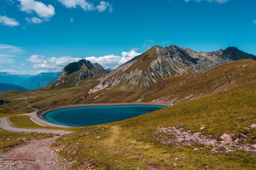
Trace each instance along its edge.
{"label": "entire grassy hillside around the lake, from far left slope to right foreground", "polygon": [[1,92],[0,96],[16,110],[27,109],[24,96],[33,108],[122,101],[174,104],[61,136],[52,150],[63,162],[72,162],[73,169],[256,168],[255,60],[170,76],[145,90],[103,89],[88,94],[98,83]]}

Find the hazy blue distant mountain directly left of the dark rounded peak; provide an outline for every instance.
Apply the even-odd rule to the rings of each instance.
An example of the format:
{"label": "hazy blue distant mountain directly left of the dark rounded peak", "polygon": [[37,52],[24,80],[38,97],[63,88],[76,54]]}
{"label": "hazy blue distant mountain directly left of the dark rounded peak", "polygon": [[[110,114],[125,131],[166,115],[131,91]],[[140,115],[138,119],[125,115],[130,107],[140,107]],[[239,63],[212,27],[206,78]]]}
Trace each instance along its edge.
{"label": "hazy blue distant mountain directly left of the dark rounded peak", "polygon": [[39,89],[44,87],[48,83],[52,83],[58,78],[60,75],[59,73],[40,73],[36,76],[28,78],[27,80],[22,81],[19,83],[20,86],[25,87],[29,90]]}

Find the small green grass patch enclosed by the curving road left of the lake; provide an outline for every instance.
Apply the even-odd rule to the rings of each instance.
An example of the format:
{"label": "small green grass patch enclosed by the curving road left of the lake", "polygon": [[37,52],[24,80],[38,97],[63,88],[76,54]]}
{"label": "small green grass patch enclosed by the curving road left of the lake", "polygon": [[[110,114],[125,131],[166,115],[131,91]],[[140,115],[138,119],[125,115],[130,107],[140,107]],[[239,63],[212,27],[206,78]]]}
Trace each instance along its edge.
{"label": "small green grass patch enclosed by the curving road left of the lake", "polygon": [[13,127],[17,128],[26,128],[26,129],[52,129],[52,130],[63,130],[63,131],[72,131],[72,127],[67,127],[67,128],[62,128],[62,127],[49,127],[49,126],[42,126],[38,125],[26,115],[22,116],[16,116],[16,117],[10,117],[9,118],[10,122],[12,122]]}

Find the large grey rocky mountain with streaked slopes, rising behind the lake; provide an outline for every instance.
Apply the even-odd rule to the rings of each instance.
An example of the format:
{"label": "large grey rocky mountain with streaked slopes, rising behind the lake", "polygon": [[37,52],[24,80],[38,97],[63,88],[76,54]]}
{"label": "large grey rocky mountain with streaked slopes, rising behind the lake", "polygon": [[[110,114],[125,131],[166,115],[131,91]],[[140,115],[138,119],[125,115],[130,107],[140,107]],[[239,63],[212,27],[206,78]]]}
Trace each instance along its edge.
{"label": "large grey rocky mountain with streaked slopes, rising behind the lake", "polygon": [[175,45],[165,48],[153,46],[101,78],[92,92],[102,89],[146,89],[170,76],[194,73],[242,59],[256,60],[256,57],[236,47],[195,52]]}

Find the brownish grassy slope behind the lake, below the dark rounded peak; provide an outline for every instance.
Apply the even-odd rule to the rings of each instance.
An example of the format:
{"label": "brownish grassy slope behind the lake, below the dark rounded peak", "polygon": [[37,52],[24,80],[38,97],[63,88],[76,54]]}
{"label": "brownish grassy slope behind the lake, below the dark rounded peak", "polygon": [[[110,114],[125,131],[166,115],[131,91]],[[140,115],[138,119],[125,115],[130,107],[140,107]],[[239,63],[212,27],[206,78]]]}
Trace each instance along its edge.
{"label": "brownish grassy slope behind the lake, below the dark rounded peak", "polygon": [[31,107],[36,109],[42,109],[49,106],[65,105],[69,103],[81,103],[83,98],[88,95],[88,92],[92,87],[97,85],[97,81],[90,81],[81,83],[77,87],[67,87],[62,89],[45,90],[37,89],[29,92],[9,91],[1,92],[0,96],[3,99],[8,99],[9,104],[6,104],[8,108],[17,110],[20,112],[35,111],[28,109],[28,104],[25,102],[25,97],[28,97],[28,103],[31,103]]}

